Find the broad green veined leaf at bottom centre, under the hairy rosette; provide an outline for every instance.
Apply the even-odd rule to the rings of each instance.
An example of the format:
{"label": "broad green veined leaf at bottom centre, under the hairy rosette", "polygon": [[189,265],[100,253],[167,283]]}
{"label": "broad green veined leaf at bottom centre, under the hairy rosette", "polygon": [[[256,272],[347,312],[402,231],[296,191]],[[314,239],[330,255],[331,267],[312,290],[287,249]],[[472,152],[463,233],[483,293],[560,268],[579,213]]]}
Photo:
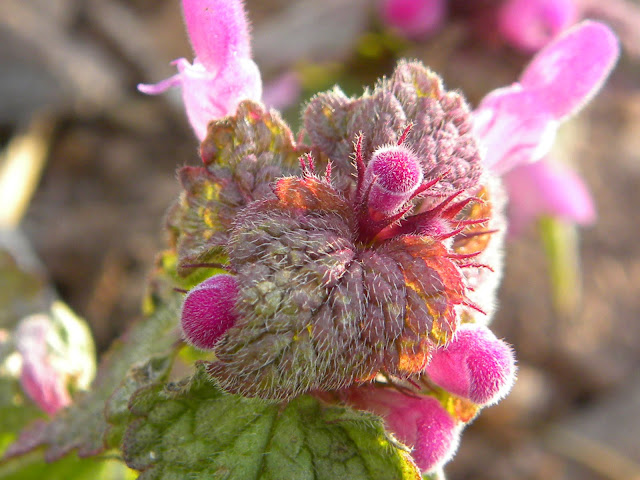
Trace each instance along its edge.
{"label": "broad green veined leaf at bottom centre, under the hairy rosette", "polygon": [[140,479],[420,479],[371,414],[305,395],[274,404],[222,392],[205,373],[141,389],[123,442]]}

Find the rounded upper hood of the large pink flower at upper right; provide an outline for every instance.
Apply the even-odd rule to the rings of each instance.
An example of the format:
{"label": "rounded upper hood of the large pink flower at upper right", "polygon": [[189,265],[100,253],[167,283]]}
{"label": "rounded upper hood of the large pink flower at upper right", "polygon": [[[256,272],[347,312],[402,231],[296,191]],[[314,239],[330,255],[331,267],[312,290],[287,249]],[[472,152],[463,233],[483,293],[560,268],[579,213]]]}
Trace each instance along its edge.
{"label": "rounded upper hood of the large pink flower at upper right", "polygon": [[618,39],[609,27],[587,20],[540,51],[520,83],[539,91],[546,110],[562,119],[580,110],[600,90],[619,54]]}

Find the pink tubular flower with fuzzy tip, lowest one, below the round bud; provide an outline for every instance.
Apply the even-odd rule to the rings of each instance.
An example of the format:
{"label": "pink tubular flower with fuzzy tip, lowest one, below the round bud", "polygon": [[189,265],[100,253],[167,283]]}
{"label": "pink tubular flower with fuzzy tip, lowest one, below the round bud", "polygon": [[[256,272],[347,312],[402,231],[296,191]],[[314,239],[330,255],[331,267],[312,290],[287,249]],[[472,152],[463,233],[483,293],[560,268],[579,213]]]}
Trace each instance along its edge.
{"label": "pink tubular flower with fuzzy tip, lowest one, below the round bud", "polygon": [[440,468],[458,449],[462,427],[434,397],[366,386],[349,389],[346,401],[384,418],[387,428],[412,449],[411,456],[423,472]]}

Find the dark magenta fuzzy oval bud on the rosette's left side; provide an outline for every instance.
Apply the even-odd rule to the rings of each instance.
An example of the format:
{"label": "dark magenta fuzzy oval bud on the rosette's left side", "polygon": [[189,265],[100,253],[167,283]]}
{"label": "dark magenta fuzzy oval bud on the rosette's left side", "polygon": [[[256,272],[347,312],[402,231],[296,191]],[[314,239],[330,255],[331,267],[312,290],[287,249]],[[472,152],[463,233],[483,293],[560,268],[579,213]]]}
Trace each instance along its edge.
{"label": "dark magenta fuzzy oval bud on the rosette's left side", "polygon": [[211,350],[236,321],[237,297],[238,284],[232,275],[215,275],[191,289],[180,320],[187,342]]}

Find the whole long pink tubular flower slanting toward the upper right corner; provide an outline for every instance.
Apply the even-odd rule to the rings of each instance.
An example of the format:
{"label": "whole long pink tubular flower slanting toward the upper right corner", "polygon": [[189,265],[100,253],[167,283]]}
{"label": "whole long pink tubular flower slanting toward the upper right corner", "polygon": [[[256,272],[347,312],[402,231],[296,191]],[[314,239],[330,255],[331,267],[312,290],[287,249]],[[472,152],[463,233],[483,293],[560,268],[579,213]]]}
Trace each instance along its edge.
{"label": "whole long pink tubular flower slanting toward the upper right corner", "polygon": [[618,54],[607,26],[584,21],[541,50],[520,82],[489,93],[474,112],[485,165],[504,174],[544,157],[558,124],[596,94]]}

